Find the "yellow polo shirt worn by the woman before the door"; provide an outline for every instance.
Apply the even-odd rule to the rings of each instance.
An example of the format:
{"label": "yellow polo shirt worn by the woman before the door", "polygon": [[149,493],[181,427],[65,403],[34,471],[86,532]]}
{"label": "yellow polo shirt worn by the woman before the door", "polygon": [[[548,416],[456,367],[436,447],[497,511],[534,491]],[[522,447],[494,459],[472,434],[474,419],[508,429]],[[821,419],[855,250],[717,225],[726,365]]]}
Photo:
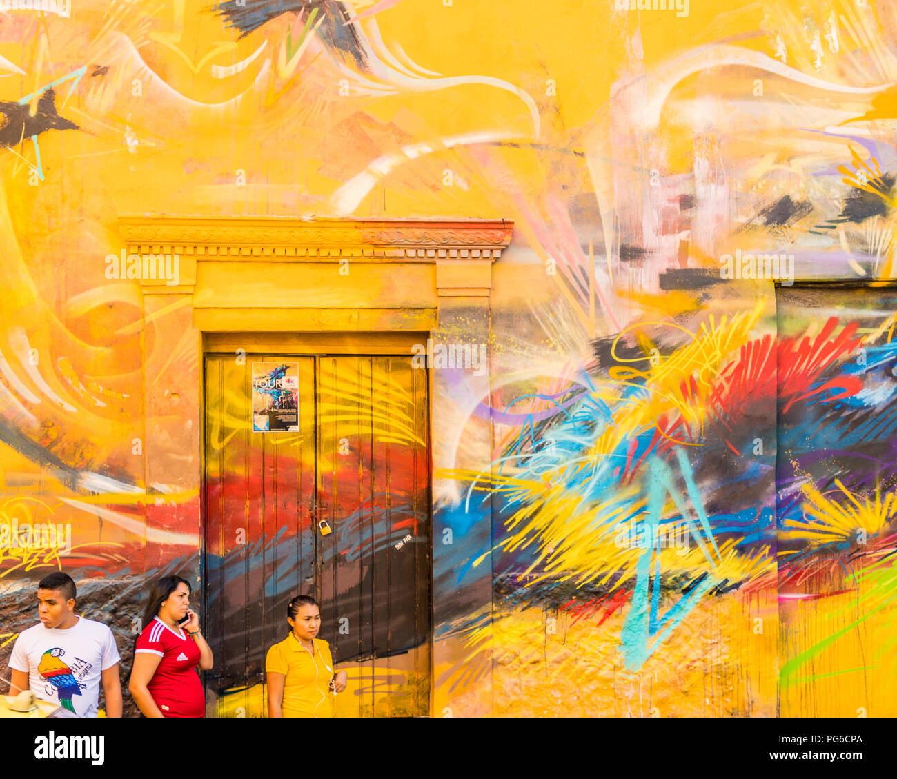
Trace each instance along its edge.
{"label": "yellow polo shirt worn by the woman before the door", "polygon": [[284,717],[334,715],[334,696],[329,689],[330,679],[334,676],[330,645],[317,638],[312,639],[312,643],[314,658],[292,633],[268,650],[266,672],[286,676],[281,704]]}

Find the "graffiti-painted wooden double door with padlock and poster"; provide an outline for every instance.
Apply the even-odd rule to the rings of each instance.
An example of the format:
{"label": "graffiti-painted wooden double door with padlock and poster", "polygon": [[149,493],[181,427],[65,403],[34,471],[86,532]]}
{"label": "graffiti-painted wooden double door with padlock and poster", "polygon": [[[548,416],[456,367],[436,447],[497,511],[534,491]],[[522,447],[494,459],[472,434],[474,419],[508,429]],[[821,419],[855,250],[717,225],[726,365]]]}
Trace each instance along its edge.
{"label": "graffiti-painted wooden double door with padlock and poster", "polygon": [[205,354],[206,686],[264,716],[295,595],[349,675],[346,716],[430,713],[428,376],[408,354]]}

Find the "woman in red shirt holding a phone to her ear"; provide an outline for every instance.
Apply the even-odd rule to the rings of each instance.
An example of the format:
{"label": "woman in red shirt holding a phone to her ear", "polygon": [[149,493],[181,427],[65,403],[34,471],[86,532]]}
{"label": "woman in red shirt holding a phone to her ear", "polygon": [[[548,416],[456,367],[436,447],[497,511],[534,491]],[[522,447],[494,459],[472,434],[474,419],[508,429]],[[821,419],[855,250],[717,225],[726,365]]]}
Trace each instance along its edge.
{"label": "woman in red shirt holding a phone to her ear", "polygon": [[152,588],[127,686],[144,717],[205,717],[196,666],[211,669],[212,650],[189,605],[190,585],[180,576],[166,576]]}

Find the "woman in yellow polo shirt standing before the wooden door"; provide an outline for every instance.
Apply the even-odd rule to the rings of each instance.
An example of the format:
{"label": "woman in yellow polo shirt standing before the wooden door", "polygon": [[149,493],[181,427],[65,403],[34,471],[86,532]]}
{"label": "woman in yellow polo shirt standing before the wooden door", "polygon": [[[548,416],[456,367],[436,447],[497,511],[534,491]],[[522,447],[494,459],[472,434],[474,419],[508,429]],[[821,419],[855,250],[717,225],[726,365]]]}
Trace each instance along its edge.
{"label": "woman in yellow polo shirt standing before the wooden door", "polygon": [[265,661],[269,717],[332,717],[330,693],[345,689],[346,673],[334,674],[330,645],[315,638],[321,629],[318,602],[293,598],[286,608],[292,631],[268,650]]}

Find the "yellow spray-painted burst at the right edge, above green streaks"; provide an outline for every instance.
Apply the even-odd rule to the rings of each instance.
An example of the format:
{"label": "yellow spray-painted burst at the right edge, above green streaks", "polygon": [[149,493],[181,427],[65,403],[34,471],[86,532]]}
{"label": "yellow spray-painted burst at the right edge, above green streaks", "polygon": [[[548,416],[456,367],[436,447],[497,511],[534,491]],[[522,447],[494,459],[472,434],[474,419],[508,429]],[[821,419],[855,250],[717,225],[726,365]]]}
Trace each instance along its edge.
{"label": "yellow spray-painted burst at the right edge, above green streaks", "polygon": [[838,479],[835,484],[840,490],[837,498],[823,495],[813,485],[802,487],[806,521],[786,521],[787,538],[806,538],[811,544],[821,545],[857,540],[861,534],[875,536],[897,513],[897,492],[883,496],[881,488],[876,488],[870,498],[850,492]]}

